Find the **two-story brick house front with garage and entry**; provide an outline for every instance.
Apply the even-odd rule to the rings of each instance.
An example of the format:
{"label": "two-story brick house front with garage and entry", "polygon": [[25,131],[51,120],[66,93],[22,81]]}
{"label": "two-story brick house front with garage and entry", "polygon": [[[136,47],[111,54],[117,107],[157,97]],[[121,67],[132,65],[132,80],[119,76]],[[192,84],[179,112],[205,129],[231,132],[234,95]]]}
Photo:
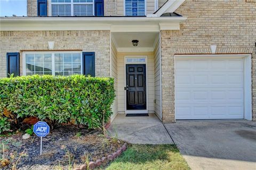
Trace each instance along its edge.
{"label": "two-story brick house front with garage and entry", "polygon": [[28,0],[2,17],[0,77],[115,78],[114,115],[256,121],[255,0]]}

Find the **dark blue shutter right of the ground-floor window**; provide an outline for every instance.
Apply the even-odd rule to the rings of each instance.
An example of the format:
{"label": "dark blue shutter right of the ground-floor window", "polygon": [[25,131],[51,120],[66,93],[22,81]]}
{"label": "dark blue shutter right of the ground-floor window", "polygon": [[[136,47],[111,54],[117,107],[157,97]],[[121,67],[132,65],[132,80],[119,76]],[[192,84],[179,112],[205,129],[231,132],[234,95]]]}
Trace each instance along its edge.
{"label": "dark blue shutter right of the ground-floor window", "polygon": [[95,53],[83,52],[83,75],[95,77]]}

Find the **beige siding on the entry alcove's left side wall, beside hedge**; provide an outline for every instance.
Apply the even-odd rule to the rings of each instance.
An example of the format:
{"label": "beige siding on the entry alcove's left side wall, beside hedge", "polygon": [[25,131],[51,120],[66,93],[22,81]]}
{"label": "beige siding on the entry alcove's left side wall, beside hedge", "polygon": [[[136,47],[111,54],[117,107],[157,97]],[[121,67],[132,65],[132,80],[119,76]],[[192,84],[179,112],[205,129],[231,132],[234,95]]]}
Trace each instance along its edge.
{"label": "beige siding on the entry alcove's left side wall, beside hedge", "polygon": [[117,51],[116,47],[113,42],[111,42],[111,77],[114,78],[115,80],[115,93],[116,93],[116,98],[115,101],[112,105],[112,111],[113,115],[111,116],[111,120],[113,120],[117,114],[118,111],[118,99],[117,99]]}

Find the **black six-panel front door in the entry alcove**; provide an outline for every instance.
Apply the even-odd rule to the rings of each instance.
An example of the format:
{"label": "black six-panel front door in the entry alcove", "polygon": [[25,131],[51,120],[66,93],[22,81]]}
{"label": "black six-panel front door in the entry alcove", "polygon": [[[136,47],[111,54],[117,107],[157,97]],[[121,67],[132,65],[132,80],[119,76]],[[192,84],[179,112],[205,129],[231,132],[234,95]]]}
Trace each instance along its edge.
{"label": "black six-panel front door in the entry alcove", "polygon": [[126,109],[147,109],[146,64],[126,64]]}

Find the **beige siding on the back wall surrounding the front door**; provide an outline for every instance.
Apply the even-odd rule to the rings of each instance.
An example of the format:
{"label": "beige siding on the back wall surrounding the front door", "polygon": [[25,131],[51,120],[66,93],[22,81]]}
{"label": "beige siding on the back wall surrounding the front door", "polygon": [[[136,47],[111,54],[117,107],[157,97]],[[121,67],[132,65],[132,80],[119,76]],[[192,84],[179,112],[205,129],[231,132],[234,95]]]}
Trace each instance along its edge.
{"label": "beige siding on the back wall surrounding the front door", "polygon": [[140,53],[118,53],[117,54],[117,95],[118,95],[118,112],[125,111],[125,56],[147,56],[147,79],[148,79],[148,111],[154,112],[154,53],[153,52],[140,52]]}

